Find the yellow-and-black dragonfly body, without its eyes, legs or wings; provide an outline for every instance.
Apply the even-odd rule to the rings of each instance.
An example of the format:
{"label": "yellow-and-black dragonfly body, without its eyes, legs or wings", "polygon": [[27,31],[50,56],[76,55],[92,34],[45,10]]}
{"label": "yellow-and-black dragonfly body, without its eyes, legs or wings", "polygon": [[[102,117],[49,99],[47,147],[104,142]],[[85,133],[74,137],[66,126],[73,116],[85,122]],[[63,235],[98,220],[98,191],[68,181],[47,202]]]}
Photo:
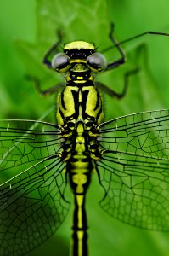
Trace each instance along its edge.
{"label": "yellow-and-black dragonfly body, without its eyes, legs or wings", "polygon": [[[65,154],[63,148],[62,156],[63,160],[67,161],[66,173],[75,202],[71,255],[83,256],[87,255],[85,196],[93,171],[92,155],[99,157],[96,150],[92,154],[91,148],[93,145],[98,146],[99,151],[95,139],[96,128],[103,119],[101,97],[93,81],[94,73],[104,67],[90,67],[91,64],[87,62],[87,56],[94,54],[92,44],[82,41],[66,44],[65,54],[69,57],[70,68],[66,70],[65,89],[59,96],[57,119],[59,125],[64,128],[63,137],[69,134],[72,138],[66,143],[66,152],[69,154]],[[54,57],[53,65],[56,64],[57,58],[58,55]],[[56,68],[63,72],[62,67]]]}

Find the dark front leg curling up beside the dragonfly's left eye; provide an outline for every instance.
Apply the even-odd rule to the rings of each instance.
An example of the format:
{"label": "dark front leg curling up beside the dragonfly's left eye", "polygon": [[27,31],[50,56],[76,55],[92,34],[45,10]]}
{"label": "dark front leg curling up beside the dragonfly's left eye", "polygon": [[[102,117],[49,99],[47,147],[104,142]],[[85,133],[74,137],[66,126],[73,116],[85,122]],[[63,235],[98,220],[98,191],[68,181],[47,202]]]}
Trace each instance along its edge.
{"label": "dark front leg curling up beside the dragonfly's left eye", "polygon": [[60,44],[62,42],[62,33],[58,30],[57,35],[59,41],[55,43],[50,49],[48,49],[48,52],[46,53],[46,55],[44,55],[44,58],[42,60],[42,63],[45,64],[48,68],[52,68],[51,60],[54,57],[54,55],[58,53],[58,48],[61,47]]}

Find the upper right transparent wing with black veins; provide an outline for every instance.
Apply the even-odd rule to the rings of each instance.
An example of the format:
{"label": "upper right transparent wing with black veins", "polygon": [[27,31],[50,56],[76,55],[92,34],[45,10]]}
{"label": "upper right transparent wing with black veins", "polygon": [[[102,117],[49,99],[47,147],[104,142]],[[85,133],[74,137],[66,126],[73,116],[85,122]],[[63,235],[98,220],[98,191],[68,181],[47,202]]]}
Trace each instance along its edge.
{"label": "upper right transparent wing with black veins", "polygon": [[169,110],[110,120],[101,125],[99,142],[116,152],[169,159]]}

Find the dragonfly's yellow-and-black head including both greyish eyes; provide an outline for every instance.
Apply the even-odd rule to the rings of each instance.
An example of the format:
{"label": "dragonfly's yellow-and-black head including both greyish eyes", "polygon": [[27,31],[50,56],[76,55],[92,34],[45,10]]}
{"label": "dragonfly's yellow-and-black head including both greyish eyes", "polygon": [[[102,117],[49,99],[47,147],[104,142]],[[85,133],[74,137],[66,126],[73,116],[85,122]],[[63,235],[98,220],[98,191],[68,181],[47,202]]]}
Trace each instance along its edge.
{"label": "dragonfly's yellow-and-black head including both greyish eyes", "polygon": [[98,73],[107,67],[104,55],[95,51],[93,44],[75,41],[65,44],[64,52],[54,55],[52,67],[59,73]]}

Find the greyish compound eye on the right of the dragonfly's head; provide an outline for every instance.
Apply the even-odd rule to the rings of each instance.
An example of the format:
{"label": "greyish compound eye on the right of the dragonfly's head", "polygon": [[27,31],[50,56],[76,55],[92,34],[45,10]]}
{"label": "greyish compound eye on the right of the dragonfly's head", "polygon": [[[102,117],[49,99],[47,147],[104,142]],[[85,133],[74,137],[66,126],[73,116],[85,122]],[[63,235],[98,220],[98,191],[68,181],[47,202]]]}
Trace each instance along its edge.
{"label": "greyish compound eye on the right of the dragonfly's head", "polygon": [[107,67],[107,61],[104,55],[100,54],[99,52],[95,52],[92,55],[87,57],[87,62],[89,66],[95,69],[105,69]]}

